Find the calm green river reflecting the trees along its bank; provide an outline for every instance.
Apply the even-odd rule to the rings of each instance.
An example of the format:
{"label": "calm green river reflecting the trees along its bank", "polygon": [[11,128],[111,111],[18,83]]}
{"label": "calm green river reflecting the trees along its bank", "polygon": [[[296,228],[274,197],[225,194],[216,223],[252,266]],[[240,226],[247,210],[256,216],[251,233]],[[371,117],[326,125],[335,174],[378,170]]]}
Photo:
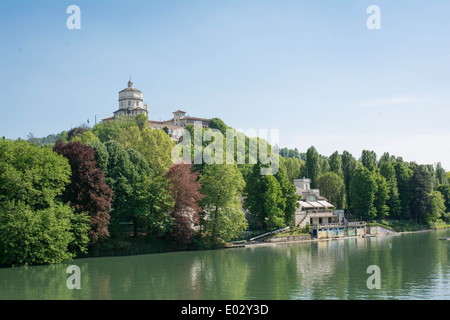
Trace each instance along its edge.
{"label": "calm green river reflecting the trees along its bank", "polygon": [[[0,299],[450,299],[450,230],[0,269]],[[69,289],[69,265],[80,289]],[[380,288],[369,289],[369,266]],[[73,282],[75,283],[75,282]]]}

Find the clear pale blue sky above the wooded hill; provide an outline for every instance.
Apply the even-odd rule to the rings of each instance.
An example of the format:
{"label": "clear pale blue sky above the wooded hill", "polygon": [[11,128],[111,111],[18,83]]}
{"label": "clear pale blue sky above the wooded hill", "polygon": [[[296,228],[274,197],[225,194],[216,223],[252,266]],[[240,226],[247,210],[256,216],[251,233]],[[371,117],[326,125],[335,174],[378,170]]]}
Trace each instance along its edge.
{"label": "clear pale blue sky above the wooded hill", "polygon": [[152,120],[181,109],[450,171],[449,16],[448,0],[2,0],[0,137],[92,126],[131,76]]}

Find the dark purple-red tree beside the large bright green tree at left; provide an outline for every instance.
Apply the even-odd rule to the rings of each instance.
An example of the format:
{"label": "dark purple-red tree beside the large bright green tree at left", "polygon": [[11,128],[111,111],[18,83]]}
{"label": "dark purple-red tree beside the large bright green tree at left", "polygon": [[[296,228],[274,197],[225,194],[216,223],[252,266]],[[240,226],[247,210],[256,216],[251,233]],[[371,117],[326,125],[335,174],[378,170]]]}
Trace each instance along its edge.
{"label": "dark purple-red tree beside the large bright green tree at left", "polygon": [[58,142],[53,150],[67,158],[72,168],[71,183],[62,200],[70,203],[77,212],[87,212],[91,217],[91,244],[108,237],[114,193],[104,181],[103,170],[97,166],[94,149],[79,142]]}

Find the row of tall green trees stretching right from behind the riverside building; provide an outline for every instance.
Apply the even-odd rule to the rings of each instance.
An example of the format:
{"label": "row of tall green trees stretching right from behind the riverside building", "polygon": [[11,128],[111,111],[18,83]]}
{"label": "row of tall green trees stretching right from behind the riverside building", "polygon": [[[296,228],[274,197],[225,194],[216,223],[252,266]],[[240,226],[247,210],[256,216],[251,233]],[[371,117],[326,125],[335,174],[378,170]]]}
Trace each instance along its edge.
{"label": "row of tall green trees stretching right from behind the riverside building", "polygon": [[363,150],[358,159],[348,151],[326,157],[314,147],[307,150],[305,161],[300,157],[288,160],[288,167],[294,168],[292,177],[310,178],[311,188],[320,189],[354,219],[450,222],[449,176],[440,163],[405,162],[389,153],[378,158],[370,150]]}

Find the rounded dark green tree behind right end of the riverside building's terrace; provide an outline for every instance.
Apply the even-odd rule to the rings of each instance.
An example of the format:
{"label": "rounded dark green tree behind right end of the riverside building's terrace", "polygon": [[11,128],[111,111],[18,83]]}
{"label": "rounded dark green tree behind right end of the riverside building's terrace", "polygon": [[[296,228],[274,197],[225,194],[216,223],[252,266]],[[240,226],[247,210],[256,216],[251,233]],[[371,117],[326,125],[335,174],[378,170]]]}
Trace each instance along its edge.
{"label": "rounded dark green tree behind right end of the riverside building's terrace", "polygon": [[365,166],[356,169],[350,183],[350,197],[354,215],[364,220],[372,220],[376,217],[373,202],[377,184],[372,173]]}

